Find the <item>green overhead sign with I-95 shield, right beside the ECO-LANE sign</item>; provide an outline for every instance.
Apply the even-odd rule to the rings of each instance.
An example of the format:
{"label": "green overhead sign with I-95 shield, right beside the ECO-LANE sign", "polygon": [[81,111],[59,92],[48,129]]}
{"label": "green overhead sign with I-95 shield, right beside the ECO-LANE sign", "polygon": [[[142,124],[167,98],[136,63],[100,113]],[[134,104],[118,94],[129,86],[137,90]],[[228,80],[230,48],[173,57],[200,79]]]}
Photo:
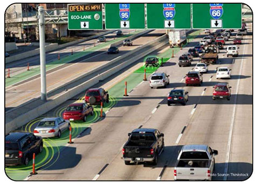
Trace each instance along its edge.
{"label": "green overhead sign with I-95 shield, right beside the ECO-LANE sign", "polygon": [[106,29],[145,29],[144,4],[105,4]]}

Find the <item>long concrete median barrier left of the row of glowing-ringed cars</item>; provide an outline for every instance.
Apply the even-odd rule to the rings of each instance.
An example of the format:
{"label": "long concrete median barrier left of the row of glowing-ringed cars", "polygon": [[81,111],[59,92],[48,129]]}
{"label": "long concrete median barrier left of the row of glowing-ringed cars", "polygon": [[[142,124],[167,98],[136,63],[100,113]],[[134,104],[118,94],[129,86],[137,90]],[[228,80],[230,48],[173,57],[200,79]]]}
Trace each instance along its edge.
{"label": "long concrete median barrier left of the row of glowing-ringed cars", "polygon": [[[141,49],[152,46],[151,48],[146,49],[146,51],[143,51],[142,53],[140,53],[138,55],[134,55],[132,58],[128,59],[126,62],[122,62],[119,65],[117,65],[113,68],[110,68],[106,72],[103,72],[103,73],[93,77],[92,79],[90,79],[84,83],[81,83],[78,86],[76,86],[68,91],[65,91],[64,94],[60,94],[59,96],[55,97],[53,100],[49,100],[49,101],[39,105],[38,107],[35,107],[32,110],[29,110],[23,115],[20,115],[13,119],[8,118],[10,121],[5,123],[5,134],[9,133],[12,130],[19,128],[20,126],[25,125],[27,122],[31,121],[34,118],[37,118],[37,117],[45,114],[46,112],[57,107],[58,105],[67,101],[68,99],[72,98],[73,96],[82,93],[82,91],[85,91],[85,89],[88,89],[89,87],[94,86],[96,83],[99,82],[99,80],[104,80],[107,77],[115,74],[116,72],[119,72],[121,69],[129,66],[133,62],[137,61],[138,59],[142,58],[143,56],[146,56],[150,52],[153,52],[155,49],[158,49],[167,43],[168,43],[167,36],[164,35],[164,36],[152,41],[151,43],[148,43],[146,45],[143,45],[143,46],[137,48],[137,51],[131,51],[131,52],[129,52],[129,54],[127,53],[128,55],[132,55],[133,53],[138,52]],[[128,55],[126,55],[126,56],[128,56]]]}

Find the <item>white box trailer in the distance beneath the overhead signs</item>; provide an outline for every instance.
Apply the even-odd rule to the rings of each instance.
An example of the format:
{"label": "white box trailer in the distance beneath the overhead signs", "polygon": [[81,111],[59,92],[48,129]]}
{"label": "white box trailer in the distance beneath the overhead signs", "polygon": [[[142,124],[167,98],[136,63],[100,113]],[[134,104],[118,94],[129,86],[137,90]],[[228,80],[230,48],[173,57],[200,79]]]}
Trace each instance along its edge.
{"label": "white box trailer in the distance beneath the overhead signs", "polygon": [[170,47],[186,43],[186,30],[169,30],[168,36]]}

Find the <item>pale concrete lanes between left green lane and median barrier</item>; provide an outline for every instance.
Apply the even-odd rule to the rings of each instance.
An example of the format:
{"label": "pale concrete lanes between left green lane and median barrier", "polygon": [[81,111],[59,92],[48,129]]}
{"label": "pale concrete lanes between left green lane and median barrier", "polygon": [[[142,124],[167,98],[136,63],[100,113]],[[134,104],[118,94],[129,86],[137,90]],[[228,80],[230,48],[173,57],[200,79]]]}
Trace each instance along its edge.
{"label": "pale concrete lanes between left green lane and median barrier", "polygon": [[[162,30],[156,30],[153,31],[153,34],[157,33],[156,35],[159,36],[159,33],[164,33]],[[91,58],[88,58],[82,62],[79,63],[66,63],[68,67],[62,68],[60,70],[57,70],[56,72],[47,74],[47,80],[46,80],[46,87],[48,90],[53,89],[54,87],[58,86],[58,83],[63,83],[63,81],[67,81],[68,78],[72,76],[79,76],[81,74],[87,73],[89,70],[99,67],[103,65],[104,63],[115,59],[119,56],[121,56],[124,53],[127,53],[129,51],[132,51],[133,49],[144,45],[148,43],[149,41],[152,41],[156,39],[157,37],[151,36],[150,33],[148,33],[148,37],[142,37],[135,39],[134,46],[121,46],[120,47],[120,53],[119,54],[105,54],[100,53],[96,56],[92,56]],[[27,91],[27,89],[30,89]],[[23,103],[24,101],[27,101],[28,99],[32,97],[37,97],[40,95],[40,78],[34,79],[32,81],[22,83],[19,86],[10,87],[5,90],[5,107],[16,107],[18,104],[20,104],[19,99],[22,98]],[[12,106],[11,106],[12,105]]]}

